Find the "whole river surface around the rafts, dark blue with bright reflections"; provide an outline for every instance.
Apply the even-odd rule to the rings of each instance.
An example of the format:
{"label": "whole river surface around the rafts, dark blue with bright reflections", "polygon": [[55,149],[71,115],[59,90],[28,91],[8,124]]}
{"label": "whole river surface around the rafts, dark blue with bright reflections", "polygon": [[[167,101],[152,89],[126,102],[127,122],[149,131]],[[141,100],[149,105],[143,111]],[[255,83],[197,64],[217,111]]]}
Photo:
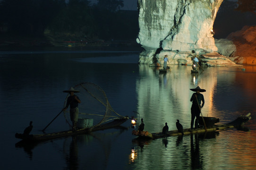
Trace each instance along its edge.
{"label": "whole river surface around the rafts, dark blue with bright reflections", "polygon": [[[204,68],[192,75],[190,66],[173,65],[171,72],[159,75],[156,68],[137,61],[138,51],[1,51],[0,169],[256,169],[256,67]],[[227,123],[250,112],[252,120],[245,124],[249,131],[137,141],[133,129],[121,128],[16,146],[16,132],[22,133],[33,120],[32,133],[42,133],[63,108],[62,91],[82,82],[101,86],[117,113],[143,118],[150,132],[161,131],[165,122],[176,129],[176,119],[188,128],[189,88],[197,85],[206,89],[204,116]],[[66,129],[61,114],[46,131]]]}

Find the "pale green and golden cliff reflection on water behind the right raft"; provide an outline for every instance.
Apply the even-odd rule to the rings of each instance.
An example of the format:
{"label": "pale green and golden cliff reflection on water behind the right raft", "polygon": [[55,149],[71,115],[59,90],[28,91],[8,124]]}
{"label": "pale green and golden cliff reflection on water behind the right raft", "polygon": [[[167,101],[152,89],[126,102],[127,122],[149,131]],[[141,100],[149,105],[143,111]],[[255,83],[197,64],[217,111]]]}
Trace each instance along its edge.
{"label": "pale green and golden cliff reflection on water behind the right raft", "polygon": [[[180,119],[184,125],[189,125],[191,107],[189,100],[193,93],[189,88],[195,88],[198,85],[206,89],[203,93],[205,96],[203,114],[211,116],[208,110],[213,108],[213,93],[218,79],[218,72],[215,70],[209,71],[204,68],[204,72],[196,75],[191,74],[190,66],[181,65],[171,65],[171,71],[166,74],[159,74],[156,68],[148,65],[140,65],[139,70],[143,78],[138,79],[136,84],[138,112],[145,120],[146,130],[157,132],[154,128],[158,127],[161,131],[165,122],[168,122],[169,129],[176,129],[176,119]],[[148,115],[150,113],[155,114]],[[170,122],[171,120],[173,121]]]}

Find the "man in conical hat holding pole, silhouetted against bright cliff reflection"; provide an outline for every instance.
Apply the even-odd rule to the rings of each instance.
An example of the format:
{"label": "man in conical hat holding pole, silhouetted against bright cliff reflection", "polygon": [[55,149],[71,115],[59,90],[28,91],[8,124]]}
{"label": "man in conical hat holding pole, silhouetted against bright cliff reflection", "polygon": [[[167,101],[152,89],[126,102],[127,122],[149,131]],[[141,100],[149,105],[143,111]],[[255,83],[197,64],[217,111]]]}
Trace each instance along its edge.
{"label": "man in conical hat holding pole, silhouetted against bright cliff reflection", "polygon": [[[196,92],[196,93],[193,93],[191,98],[190,98],[190,102],[192,102],[190,127],[191,127],[191,129],[193,129],[195,117],[196,117],[195,128],[197,128],[198,127],[198,121],[199,121],[199,118],[200,118],[201,109],[205,105],[204,95],[201,94],[200,92],[206,92],[206,90],[201,89],[199,86],[197,86],[194,89],[189,89],[189,90],[191,90],[193,92]],[[202,102],[202,105],[201,105],[201,102]]]}

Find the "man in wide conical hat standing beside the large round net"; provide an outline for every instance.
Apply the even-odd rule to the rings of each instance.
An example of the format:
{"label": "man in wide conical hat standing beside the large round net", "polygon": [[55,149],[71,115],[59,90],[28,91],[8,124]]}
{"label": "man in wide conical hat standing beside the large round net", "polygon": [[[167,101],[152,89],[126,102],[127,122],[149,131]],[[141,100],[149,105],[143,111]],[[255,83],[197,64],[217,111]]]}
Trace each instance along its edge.
{"label": "man in wide conical hat standing beside the large round net", "polygon": [[77,120],[78,120],[78,103],[81,103],[79,97],[74,93],[78,93],[78,90],[75,90],[73,87],[70,87],[69,90],[63,91],[65,93],[69,93],[66,107],[63,109],[64,111],[68,109],[70,105],[69,113],[70,113],[70,120],[72,121],[72,130],[76,130],[77,128]]}

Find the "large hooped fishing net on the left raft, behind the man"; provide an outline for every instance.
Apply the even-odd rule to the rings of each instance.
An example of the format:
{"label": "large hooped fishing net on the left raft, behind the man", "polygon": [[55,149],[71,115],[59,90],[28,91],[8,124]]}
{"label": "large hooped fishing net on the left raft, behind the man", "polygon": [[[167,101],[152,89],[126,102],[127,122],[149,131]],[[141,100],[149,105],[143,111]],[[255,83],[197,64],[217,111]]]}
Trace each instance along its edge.
{"label": "large hooped fishing net on the left raft, behind the man", "polygon": [[[98,85],[94,83],[81,83],[74,86],[74,89],[79,91],[75,95],[81,101],[78,105],[79,116],[77,124],[85,124],[83,128],[94,128],[110,120],[124,118],[124,116],[119,115],[112,109],[105,92]],[[69,95],[68,93],[64,107],[67,104]],[[72,127],[69,109],[64,111],[64,116],[69,126]]]}

